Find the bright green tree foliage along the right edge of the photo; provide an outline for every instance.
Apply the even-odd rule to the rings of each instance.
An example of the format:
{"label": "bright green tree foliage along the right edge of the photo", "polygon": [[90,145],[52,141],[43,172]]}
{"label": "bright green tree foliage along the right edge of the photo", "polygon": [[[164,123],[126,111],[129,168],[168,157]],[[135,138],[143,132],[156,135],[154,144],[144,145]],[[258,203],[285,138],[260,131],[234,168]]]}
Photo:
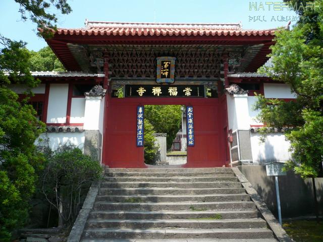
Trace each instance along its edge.
{"label": "bright green tree foliage along the right edge of the photo", "polygon": [[[287,2],[300,6],[304,1]],[[322,172],[323,1],[315,5],[319,8],[297,9],[299,21],[293,30],[276,32],[270,55],[274,65],[266,70],[274,80],[289,84],[297,98],[286,103],[259,96],[255,105],[266,126],[292,128],[286,134],[293,151],[288,167],[302,177]]]}

